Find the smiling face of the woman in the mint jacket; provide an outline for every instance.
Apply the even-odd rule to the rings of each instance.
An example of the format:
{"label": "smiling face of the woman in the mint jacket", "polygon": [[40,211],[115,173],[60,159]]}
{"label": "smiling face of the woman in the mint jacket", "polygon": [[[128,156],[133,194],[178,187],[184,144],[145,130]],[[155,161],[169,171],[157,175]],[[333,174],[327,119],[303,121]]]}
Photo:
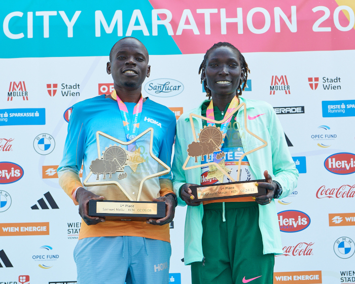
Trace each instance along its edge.
{"label": "smiling face of the woman in the mint jacket", "polygon": [[241,69],[236,50],[219,47],[209,54],[204,76],[212,95],[236,93],[241,74],[244,76],[244,68]]}

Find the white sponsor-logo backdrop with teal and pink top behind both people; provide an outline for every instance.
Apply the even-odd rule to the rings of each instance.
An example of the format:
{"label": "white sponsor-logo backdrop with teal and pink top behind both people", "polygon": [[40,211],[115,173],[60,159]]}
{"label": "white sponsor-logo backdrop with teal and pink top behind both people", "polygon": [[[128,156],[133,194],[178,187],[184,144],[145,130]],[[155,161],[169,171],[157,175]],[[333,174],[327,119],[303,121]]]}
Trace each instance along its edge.
{"label": "white sponsor-logo backdrop with teal and pink top behind both people", "polygon": [[[150,53],[143,95],[176,119],[205,98],[205,51],[219,41],[241,50],[251,68],[243,96],[274,107],[300,172],[297,189],[276,201],[274,283],[354,283],[354,12],[345,0],[2,2],[0,282],[76,283],[81,219],[56,169],[72,105],[113,90],[109,52],[132,36]],[[185,212],[170,224],[176,284],[191,283]]]}

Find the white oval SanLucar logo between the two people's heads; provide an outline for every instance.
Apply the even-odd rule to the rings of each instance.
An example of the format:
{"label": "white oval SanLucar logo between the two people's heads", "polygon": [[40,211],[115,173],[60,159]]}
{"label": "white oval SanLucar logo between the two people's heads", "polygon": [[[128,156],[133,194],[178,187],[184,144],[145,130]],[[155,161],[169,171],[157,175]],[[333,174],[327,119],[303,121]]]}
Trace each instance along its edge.
{"label": "white oval SanLucar logo between the two people's heads", "polygon": [[174,79],[155,79],[148,82],[145,91],[156,97],[173,97],[179,95],[184,91],[184,85]]}

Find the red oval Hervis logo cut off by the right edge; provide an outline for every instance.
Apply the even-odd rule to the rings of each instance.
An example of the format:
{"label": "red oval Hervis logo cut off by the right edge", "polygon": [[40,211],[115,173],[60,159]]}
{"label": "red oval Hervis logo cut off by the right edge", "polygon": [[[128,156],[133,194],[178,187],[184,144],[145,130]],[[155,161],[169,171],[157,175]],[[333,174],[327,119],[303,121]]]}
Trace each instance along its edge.
{"label": "red oval Hervis logo cut off by the right edge", "polygon": [[336,174],[350,174],[355,172],[355,155],[351,153],[337,153],[324,161],[327,170]]}

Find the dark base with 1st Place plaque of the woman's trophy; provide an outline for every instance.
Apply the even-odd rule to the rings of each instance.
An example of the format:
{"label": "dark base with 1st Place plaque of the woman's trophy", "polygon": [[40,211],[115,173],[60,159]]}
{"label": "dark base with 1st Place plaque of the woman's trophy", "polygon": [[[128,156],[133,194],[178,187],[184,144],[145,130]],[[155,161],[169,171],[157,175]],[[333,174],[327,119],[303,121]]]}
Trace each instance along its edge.
{"label": "dark base with 1st Place plaque of the woman's trophy", "polygon": [[190,186],[195,197],[191,202],[265,195],[266,189],[257,187],[255,183],[265,183],[265,180]]}

